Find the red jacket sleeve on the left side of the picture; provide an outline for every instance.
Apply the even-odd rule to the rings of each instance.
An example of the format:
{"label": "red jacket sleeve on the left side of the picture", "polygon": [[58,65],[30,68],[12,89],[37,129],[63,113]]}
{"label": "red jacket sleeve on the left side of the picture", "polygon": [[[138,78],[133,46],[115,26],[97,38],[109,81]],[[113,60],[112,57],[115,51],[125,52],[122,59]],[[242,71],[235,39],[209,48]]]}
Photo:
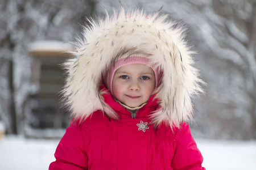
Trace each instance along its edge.
{"label": "red jacket sleeve on the left side of the picture", "polygon": [[71,125],[56,148],[56,161],[49,165],[49,170],[88,169],[88,137],[84,138],[81,125]]}

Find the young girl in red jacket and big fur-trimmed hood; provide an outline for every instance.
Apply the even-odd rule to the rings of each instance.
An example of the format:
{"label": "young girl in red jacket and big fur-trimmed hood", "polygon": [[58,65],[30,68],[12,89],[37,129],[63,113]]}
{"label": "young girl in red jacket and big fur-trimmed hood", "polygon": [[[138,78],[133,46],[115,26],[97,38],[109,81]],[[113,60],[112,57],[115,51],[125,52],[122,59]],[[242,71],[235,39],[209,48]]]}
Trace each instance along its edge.
{"label": "young girl in red jacket and big fur-trimmed hood", "polygon": [[73,121],[49,169],[205,169],[185,123],[204,82],[184,29],[123,8],[90,23],[65,63]]}

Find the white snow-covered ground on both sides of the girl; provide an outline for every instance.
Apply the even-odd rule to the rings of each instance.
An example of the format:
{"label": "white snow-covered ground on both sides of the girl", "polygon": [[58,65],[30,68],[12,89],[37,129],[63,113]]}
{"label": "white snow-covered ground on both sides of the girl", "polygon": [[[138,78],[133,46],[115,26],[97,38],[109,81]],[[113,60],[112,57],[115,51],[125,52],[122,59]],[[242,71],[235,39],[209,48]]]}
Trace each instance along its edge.
{"label": "white snow-covered ground on both sides of the girl", "polygon": [[[256,167],[256,141],[196,139],[207,170],[243,170]],[[26,139],[7,136],[0,141],[0,169],[46,170],[55,160],[59,139]]]}

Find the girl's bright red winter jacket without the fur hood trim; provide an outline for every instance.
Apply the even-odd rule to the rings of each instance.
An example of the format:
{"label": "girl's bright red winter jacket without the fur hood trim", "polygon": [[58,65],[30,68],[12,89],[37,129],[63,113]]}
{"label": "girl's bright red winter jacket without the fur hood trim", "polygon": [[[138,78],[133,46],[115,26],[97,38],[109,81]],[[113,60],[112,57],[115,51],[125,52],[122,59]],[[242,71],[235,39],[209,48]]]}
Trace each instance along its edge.
{"label": "girl's bright red winter jacket without the fur hood trim", "polygon": [[[203,170],[203,157],[186,123],[181,128],[157,129],[149,125],[148,115],[155,111],[156,100],[139,109],[136,118],[112,95],[105,101],[119,115],[119,120],[96,111],[84,122],[73,122],[61,139],[55,152],[53,169],[191,169]],[[147,122],[149,129],[138,130],[138,124]]]}

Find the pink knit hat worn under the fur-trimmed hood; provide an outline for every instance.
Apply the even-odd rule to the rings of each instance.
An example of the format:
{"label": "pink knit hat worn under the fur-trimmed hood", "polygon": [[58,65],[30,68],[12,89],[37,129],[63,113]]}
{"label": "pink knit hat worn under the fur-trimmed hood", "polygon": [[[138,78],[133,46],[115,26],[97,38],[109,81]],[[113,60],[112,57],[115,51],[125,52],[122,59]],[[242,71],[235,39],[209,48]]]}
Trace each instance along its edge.
{"label": "pink knit hat worn under the fur-trimmed hood", "polygon": [[150,60],[148,58],[144,57],[143,55],[133,55],[133,56],[129,56],[126,58],[118,59],[118,61],[116,61],[114,63],[114,66],[112,68],[110,68],[108,80],[106,83],[107,83],[107,86],[108,86],[111,94],[113,94],[112,84],[113,84],[113,78],[114,78],[115,71],[117,71],[117,69],[119,69],[120,67],[131,65],[134,63],[140,63],[140,64],[150,67],[155,73],[155,88],[158,87],[158,83],[159,83],[158,68],[156,68],[154,65],[152,65],[150,63]]}

